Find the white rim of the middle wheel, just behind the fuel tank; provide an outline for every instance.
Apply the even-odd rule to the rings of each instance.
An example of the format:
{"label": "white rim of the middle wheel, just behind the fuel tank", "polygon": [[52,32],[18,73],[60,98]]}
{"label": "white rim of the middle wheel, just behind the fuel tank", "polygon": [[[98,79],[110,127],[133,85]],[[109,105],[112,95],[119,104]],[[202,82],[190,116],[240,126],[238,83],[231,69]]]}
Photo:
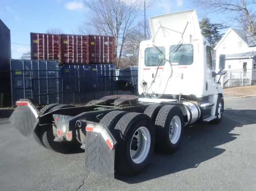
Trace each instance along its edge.
{"label": "white rim of the middle wheel, just behind the fuel tank", "polygon": [[169,128],[169,138],[171,143],[176,144],[181,137],[181,119],[179,116],[174,116],[171,120]]}

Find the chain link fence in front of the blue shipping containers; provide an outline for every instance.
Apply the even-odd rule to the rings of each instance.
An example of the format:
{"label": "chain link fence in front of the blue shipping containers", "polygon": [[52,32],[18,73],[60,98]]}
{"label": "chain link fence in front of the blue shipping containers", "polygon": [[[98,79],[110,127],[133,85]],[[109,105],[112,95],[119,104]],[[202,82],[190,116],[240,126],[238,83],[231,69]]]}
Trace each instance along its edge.
{"label": "chain link fence in front of the blue shipping containers", "polygon": [[107,95],[138,92],[138,71],[131,70],[120,75],[119,70],[89,71],[67,66],[55,70],[12,70],[5,75],[11,79],[2,81],[11,92],[8,106],[14,106],[19,99],[29,99],[35,105],[85,104]]}

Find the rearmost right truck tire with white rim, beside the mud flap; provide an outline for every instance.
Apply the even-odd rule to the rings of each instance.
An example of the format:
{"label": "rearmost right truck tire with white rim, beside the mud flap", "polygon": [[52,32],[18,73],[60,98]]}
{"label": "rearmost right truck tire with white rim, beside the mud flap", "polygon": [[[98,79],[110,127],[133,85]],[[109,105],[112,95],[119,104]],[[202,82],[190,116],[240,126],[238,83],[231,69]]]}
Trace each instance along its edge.
{"label": "rearmost right truck tire with white rim, beside the mud flap", "polygon": [[123,176],[140,174],[149,163],[155,146],[154,124],[149,116],[130,112],[115,126],[117,139],[115,170]]}

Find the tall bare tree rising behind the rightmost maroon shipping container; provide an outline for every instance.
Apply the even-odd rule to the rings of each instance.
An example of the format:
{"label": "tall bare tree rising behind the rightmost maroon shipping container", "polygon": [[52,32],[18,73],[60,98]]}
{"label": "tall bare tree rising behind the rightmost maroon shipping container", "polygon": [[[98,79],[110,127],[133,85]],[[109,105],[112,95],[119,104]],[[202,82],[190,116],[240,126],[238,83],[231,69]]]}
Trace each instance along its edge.
{"label": "tall bare tree rising behind the rightmost maroon shipping container", "polygon": [[[153,0],[147,1],[146,8]],[[85,22],[84,34],[92,33],[115,37],[116,67],[119,68],[123,55],[124,43],[134,31],[136,19],[144,11],[143,0],[85,0],[90,9],[90,21]]]}

